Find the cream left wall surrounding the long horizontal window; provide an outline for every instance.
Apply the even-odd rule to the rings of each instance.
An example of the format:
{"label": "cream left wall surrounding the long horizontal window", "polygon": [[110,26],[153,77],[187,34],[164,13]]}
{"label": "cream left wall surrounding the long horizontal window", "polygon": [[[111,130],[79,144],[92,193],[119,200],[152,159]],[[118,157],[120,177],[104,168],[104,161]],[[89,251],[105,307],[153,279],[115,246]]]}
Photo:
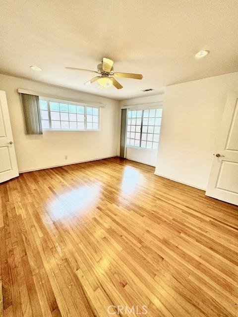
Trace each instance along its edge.
{"label": "cream left wall surrounding the long horizontal window", "polygon": [[[26,135],[18,88],[59,96],[62,99],[105,104],[101,108],[101,131],[44,131],[43,135]],[[0,75],[0,90],[6,92],[19,171],[118,154],[118,101],[6,75]],[[65,155],[67,159],[64,158]]]}

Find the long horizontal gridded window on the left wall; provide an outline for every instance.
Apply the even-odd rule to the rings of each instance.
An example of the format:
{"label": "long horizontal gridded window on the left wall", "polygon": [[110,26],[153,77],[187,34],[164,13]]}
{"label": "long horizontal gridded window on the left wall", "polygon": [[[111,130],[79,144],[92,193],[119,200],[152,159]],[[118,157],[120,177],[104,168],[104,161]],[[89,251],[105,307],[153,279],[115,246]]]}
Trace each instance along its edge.
{"label": "long horizontal gridded window on the left wall", "polygon": [[43,129],[99,130],[99,107],[40,99]]}

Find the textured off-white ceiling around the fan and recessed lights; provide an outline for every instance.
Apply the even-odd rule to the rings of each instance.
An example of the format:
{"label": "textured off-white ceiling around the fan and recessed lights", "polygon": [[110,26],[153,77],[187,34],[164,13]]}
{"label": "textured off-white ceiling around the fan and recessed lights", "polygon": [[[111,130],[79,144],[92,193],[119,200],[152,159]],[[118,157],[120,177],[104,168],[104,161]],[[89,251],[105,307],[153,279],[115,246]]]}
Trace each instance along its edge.
{"label": "textured off-white ceiling around the fan and recessed lights", "polygon": [[[123,100],[238,71],[238,0],[1,0],[0,15],[1,73]],[[197,60],[200,50],[211,53]],[[144,78],[102,90],[84,86],[93,73],[64,69],[102,57]]]}

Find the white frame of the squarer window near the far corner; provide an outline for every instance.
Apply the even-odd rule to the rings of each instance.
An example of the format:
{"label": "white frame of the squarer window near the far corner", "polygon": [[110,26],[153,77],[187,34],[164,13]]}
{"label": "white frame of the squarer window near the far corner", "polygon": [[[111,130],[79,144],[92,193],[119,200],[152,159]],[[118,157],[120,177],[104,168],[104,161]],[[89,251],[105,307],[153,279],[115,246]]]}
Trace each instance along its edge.
{"label": "white frame of the squarer window near the far corner", "polygon": [[[163,117],[163,106],[162,105],[158,105],[158,106],[133,106],[133,107],[129,107],[127,108],[127,111],[126,111],[126,134],[125,134],[125,146],[126,148],[134,148],[134,149],[138,149],[138,150],[146,150],[146,151],[158,151],[158,148],[159,148],[159,142],[160,140],[158,141],[158,148],[157,149],[147,149],[147,148],[142,148],[141,147],[141,141],[142,140],[142,128],[143,128],[143,119],[144,119],[144,111],[145,110],[150,110],[150,109],[162,109],[162,115],[161,115],[161,120],[162,120],[162,117]],[[142,115],[141,115],[141,128],[140,128],[140,145],[139,146],[135,146],[135,145],[127,145],[127,126],[128,126],[128,111],[133,111],[133,110],[142,110]],[[147,118],[147,117],[146,117]],[[148,117],[149,118],[149,117]],[[155,127],[155,125],[154,125]],[[161,127],[161,125],[160,125]],[[147,132],[148,134],[148,132]],[[160,136],[160,133],[156,133],[156,134],[159,134]],[[154,135],[154,132],[153,132],[153,135]],[[153,141],[152,141],[153,142]]]}

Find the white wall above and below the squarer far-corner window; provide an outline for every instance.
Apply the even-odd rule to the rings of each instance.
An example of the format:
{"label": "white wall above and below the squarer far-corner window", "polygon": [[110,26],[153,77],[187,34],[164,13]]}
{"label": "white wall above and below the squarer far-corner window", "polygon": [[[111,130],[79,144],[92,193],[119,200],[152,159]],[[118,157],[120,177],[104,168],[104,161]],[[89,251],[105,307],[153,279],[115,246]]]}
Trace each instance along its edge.
{"label": "white wall above and below the squarer far-corner window", "polygon": [[[141,98],[134,98],[123,100],[120,102],[120,106],[129,106],[139,108],[144,106],[155,106],[157,103],[161,105],[164,100],[164,95],[154,95]],[[143,105],[143,106],[142,106]],[[147,150],[135,147],[126,147],[126,159],[131,159],[140,163],[156,166],[157,151]]]}

